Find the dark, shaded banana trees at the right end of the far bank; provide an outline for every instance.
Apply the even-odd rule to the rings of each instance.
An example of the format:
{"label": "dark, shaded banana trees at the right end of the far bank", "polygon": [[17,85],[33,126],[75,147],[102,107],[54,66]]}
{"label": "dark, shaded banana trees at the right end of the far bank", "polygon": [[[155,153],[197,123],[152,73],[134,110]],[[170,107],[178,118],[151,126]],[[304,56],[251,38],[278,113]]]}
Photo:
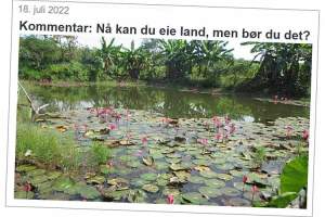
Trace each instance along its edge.
{"label": "dark, shaded banana trees at the right end of the far bank", "polygon": [[260,60],[259,72],[249,84],[252,88],[266,88],[291,97],[307,93],[311,77],[310,44],[260,42],[243,44],[252,44],[251,53],[256,53],[253,61]]}

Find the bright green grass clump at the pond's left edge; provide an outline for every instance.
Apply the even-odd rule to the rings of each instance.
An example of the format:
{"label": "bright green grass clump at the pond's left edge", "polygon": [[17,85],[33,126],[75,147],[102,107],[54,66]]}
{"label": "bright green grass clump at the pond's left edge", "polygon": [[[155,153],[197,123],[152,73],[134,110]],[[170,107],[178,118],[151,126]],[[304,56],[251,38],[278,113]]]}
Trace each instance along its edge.
{"label": "bright green grass clump at the pond's left edge", "polygon": [[53,129],[41,128],[35,124],[17,125],[16,137],[17,162],[30,162],[47,168],[63,171],[78,171],[87,162],[92,170],[105,163],[110,151],[101,143],[91,142],[86,148],[78,146],[72,136],[62,136]]}

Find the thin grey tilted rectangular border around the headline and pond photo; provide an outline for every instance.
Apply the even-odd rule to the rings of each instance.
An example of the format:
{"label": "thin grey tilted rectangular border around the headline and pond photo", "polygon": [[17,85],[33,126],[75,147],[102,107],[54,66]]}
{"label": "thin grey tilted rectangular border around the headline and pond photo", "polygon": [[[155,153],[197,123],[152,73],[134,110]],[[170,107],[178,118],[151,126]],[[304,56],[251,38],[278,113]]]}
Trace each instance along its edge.
{"label": "thin grey tilted rectangular border around the headline and pond photo", "polygon": [[[12,42],[13,42],[13,2],[21,1],[21,2],[53,2],[53,3],[86,3],[86,4],[112,4],[112,5],[141,5],[141,7],[177,7],[177,8],[211,8],[211,9],[253,9],[253,10],[266,10],[266,11],[306,11],[306,12],[317,12],[318,14],[318,29],[317,29],[317,54],[316,54],[316,84],[315,84],[315,123],[314,123],[314,154],[313,154],[313,183],[312,183],[312,199],[311,199],[311,217],[314,214],[314,182],[315,182],[315,153],[316,153],[316,115],[317,115],[317,81],[318,81],[318,56],[320,56],[320,29],[321,29],[321,10],[303,10],[303,9],[272,9],[272,8],[248,8],[248,7],[211,7],[211,5],[198,5],[198,4],[154,4],[154,3],[135,3],[135,2],[101,2],[101,1],[74,1],[74,0],[12,0],[11,4],[11,40],[10,40],[10,74],[9,74],[9,106],[8,106],[8,136],[6,136],[6,171],[5,171],[5,207],[25,207],[25,208],[61,208],[61,209],[80,209],[80,210],[89,210],[89,209],[96,209],[96,210],[121,210],[121,212],[145,212],[145,213],[181,213],[181,214],[204,214],[204,215],[211,215],[211,214],[222,214],[222,215],[247,215],[247,216],[291,216],[291,215],[264,215],[264,214],[225,214],[225,213],[202,213],[202,212],[177,212],[177,210],[134,210],[134,209],[118,209],[118,208],[76,208],[76,207],[48,207],[48,206],[10,206],[8,205],[8,165],[9,165],[9,128],[10,128],[10,104],[11,104],[11,72],[12,72]],[[185,206],[184,206],[185,207]]]}

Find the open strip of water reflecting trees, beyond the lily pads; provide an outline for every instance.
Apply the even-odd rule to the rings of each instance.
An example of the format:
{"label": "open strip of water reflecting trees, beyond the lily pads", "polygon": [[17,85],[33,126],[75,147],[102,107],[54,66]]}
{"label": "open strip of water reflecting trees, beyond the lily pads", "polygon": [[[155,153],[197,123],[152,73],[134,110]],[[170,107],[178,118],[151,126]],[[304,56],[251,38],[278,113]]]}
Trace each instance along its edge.
{"label": "open strip of water reflecting trees, beyond the lily pads", "polygon": [[309,117],[309,107],[262,102],[239,94],[212,95],[155,87],[34,87],[39,104],[52,111],[113,106],[158,112],[170,118],[229,115],[236,120],[266,123],[278,117]]}

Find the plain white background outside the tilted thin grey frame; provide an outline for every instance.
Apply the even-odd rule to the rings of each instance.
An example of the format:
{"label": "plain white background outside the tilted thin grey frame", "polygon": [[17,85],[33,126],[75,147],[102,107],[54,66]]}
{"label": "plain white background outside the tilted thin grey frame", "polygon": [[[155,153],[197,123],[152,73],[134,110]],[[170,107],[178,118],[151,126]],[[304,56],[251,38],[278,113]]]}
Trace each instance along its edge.
{"label": "plain white background outside the tilted thin grey frame", "polygon": [[[122,0],[110,0],[110,2],[132,2],[122,1]],[[135,1],[133,1],[135,2]],[[147,1],[140,1],[136,2],[150,2],[150,3],[172,3],[172,4],[199,4],[199,5],[217,5],[217,7],[245,7],[245,8],[281,8],[281,9],[311,9],[311,10],[323,10],[324,8],[321,7],[321,1],[298,1],[298,0],[256,0],[256,1],[246,1],[246,0],[225,0],[225,1],[217,1],[217,0],[173,0],[173,1],[159,1],[159,0],[147,0]],[[11,216],[11,215],[20,215],[20,216],[143,216],[143,215],[151,215],[151,216],[190,216],[190,214],[170,214],[170,213],[144,213],[144,212],[108,212],[108,210],[78,210],[78,209],[61,209],[61,208],[12,208],[6,207],[4,203],[4,192],[5,192],[5,173],[6,173],[6,138],[8,138],[8,110],[9,110],[9,72],[10,72],[10,41],[11,41],[11,0],[4,0],[1,4],[1,79],[0,79],[0,94],[1,94],[1,106],[0,106],[0,215],[1,216]],[[236,17],[237,14],[233,14],[231,17],[225,17],[226,20],[240,20],[240,17]],[[259,17],[257,17],[259,18]],[[285,18],[285,16],[283,17]],[[321,12],[322,18],[322,12]],[[40,20],[39,20],[40,21]],[[278,20],[277,20],[278,21]],[[222,22],[222,20],[220,21]],[[236,22],[234,22],[236,23]],[[276,22],[275,22],[276,23]],[[297,16],[297,23],[303,27],[306,23],[301,17]],[[321,20],[321,24],[324,23]],[[270,24],[269,24],[270,25]],[[275,26],[281,27],[282,24],[277,23]],[[321,25],[322,26],[322,25]],[[314,28],[314,24],[311,24],[311,28]],[[315,174],[314,174],[314,201],[313,201],[313,214],[314,216],[324,216],[322,212],[325,212],[324,205],[322,201],[323,195],[325,193],[324,190],[324,175],[322,175],[322,165],[324,165],[324,157],[322,153],[325,153],[324,145],[322,142],[325,141],[324,133],[322,135],[321,131],[324,132],[324,122],[321,123],[321,119],[324,118],[324,114],[322,111],[324,107],[324,98],[322,99],[322,93],[324,93],[324,75],[322,71],[324,69],[324,48],[322,50],[322,37],[324,38],[324,30],[321,27],[321,37],[320,37],[320,61],[318,61],[318,97],[317,97],[317,119],[316,119],[316,145],[315,145]],[[323,39],[324,40],[324,39]],[[324,47],[324,46],[323,46]],[[322,186],[323,184],[323,186]],[[185,208],[185,207],[184,207]],[[270,213],[273,215],[274,213]],[[214,215],[216,216],[216,215]],[[220,215],[221,216],[221,215]],[[230,216],[230,215],[226,215]],[[237,216],[237,215],[236,215]]]}

